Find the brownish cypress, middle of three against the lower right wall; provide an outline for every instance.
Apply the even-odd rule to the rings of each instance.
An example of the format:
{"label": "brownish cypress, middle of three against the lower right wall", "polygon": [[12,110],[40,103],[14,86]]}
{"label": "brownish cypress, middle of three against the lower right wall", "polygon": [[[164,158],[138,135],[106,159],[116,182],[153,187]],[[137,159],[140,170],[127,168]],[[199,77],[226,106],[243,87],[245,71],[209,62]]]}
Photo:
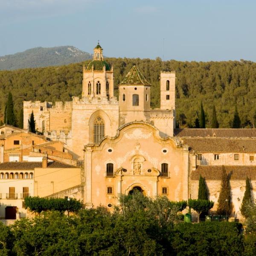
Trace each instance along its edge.
{"label": "brownish cypress, middle of three against the lower right wall", "polygon": [[[226,201],[227,200],[227,201]],[[217,213],[219,215],[230,215],[231,213],[231,196],[230,196],[230,182],[229,177],[222,167],[221,173],[221,192],[218,198],[218,209]]]}

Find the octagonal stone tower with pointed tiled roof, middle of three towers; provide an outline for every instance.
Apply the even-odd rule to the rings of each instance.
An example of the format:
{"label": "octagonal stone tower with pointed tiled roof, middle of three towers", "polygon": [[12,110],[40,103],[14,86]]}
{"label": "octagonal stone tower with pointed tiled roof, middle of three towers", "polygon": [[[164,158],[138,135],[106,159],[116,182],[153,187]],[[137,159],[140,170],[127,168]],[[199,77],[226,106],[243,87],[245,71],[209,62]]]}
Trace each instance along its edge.
{"label": "octagonal stone tower with pointed tiled roof, middle of three towers", "polygon": [[119,87],[120,125],[150,119],[150,86],[140,70],[133,66]]}

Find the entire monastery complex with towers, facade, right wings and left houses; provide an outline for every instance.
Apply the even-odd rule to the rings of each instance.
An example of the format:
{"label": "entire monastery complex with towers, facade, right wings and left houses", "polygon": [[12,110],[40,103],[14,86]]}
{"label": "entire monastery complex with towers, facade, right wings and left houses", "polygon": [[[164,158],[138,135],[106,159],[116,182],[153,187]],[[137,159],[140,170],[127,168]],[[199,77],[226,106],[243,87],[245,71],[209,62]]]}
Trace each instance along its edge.
{"label": "entire monastery complex with towers, facade, right wings and left houses", "polygon": [[[215,210],[224,169],[232,215],[240,218],[246,177],[256,197],[256,129],[176,129],[175,79],[174,71],[160,73],[160,108],[151,109],[151,84],[133,66],[118,84],[117,99],[114,67],[98,44],[83,67],[81,97],[55,105],[23,102],[24,129],[0,127],[0,217],[11,214],[6,207],[18,207],[26,217],[24,193],[73,197],[87,208],[109,209],[120,193],[134,189],[188,200],[198,196],[200,175]],[[32,111],[44,135],[28,132]]]}

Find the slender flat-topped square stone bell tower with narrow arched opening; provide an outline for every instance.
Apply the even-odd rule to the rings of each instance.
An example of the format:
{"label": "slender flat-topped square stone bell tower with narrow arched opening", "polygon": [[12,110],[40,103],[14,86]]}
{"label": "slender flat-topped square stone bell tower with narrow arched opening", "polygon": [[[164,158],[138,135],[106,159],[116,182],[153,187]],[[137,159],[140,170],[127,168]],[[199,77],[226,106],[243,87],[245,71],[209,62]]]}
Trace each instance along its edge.
{"label": "slender flat-topped square stone bell tower with narrow arched opening", "polygon": [[175,110],[175,71],[160,73],[160,109]]}

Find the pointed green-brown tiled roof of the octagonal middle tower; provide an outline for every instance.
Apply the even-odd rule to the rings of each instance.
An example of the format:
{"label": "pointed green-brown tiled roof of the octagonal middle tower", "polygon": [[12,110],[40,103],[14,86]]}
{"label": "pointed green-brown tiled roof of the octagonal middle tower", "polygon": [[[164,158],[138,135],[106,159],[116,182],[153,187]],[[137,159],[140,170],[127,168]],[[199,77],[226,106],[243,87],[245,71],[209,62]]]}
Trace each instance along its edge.
{"label": "pointed green-brown tiled roof of the octagonal middle tower", "polygon": [[151,85],[137,69],[133,66],[119,85]]}

